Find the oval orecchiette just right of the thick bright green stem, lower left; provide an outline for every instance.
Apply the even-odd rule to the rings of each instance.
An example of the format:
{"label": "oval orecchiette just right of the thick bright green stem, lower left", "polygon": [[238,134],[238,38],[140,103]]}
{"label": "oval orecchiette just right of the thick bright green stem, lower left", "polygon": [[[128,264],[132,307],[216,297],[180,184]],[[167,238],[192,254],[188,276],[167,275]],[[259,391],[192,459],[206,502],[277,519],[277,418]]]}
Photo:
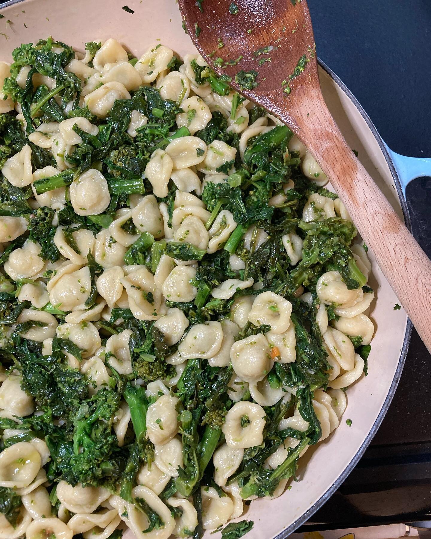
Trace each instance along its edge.
{"label": "oval orecchiette just right of the thick bright green stem, lower left", "polygon": [[147,436],[155,445],[167,444],[178,432],[177,397],[162,395],[147,411]]}

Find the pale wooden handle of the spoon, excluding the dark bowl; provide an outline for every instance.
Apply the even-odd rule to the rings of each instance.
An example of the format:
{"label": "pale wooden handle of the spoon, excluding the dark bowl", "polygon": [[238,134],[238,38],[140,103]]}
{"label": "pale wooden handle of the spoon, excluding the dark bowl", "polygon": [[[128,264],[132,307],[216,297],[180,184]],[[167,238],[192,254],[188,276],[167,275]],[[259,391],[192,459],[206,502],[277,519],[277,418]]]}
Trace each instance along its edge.
{"label": "pale wooden handle of the spoon, excluding the dark bowl", "polygon": [[302,116],[300,137],[321,164],[431,353],[431,261],[347,146],[323,98],[308,101],[297,110],[298,116]]}

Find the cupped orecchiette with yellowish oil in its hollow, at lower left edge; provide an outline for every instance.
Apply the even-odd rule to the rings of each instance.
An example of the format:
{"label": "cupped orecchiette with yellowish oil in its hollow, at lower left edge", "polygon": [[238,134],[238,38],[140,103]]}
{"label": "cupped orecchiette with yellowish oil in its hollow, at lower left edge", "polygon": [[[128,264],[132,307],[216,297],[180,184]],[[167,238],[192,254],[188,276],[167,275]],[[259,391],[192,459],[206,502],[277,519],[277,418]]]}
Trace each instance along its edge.
{"label": "cupped orecchiette with yellowish oil in its hollow, at lower left edge", "polygon": [[41,466],[40,454],[27,441],[20,441],[0,453],[0,487],[28,487]]}

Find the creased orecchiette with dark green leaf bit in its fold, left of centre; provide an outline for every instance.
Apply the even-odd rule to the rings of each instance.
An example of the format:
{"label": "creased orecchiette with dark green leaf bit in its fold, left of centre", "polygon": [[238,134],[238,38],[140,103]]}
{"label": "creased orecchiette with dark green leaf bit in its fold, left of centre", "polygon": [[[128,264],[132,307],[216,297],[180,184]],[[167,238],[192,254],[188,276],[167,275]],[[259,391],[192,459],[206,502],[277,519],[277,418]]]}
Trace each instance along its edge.
{"label": "creased orecchiette with dark green leaf bit in its fold, left of centre", "polygon": [[120,279],[127,291],[129,308],[138,320],[156,320],[162,296],[154,282],[154,275],[145,267],[137,266]]}

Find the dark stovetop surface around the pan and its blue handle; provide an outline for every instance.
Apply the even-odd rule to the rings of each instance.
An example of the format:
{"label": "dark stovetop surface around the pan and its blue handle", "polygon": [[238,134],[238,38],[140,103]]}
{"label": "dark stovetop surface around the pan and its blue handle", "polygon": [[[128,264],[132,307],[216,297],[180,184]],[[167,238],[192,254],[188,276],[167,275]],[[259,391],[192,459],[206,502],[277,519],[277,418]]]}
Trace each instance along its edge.
{"label": "dark stovetop surface around the pan and its blue handle", "polygon": [[[431,157],[431,1],[308,5],[319,58],[388,146]],[[431,178],[415,179],[406,196],[414,236],[431,257]],[[369,450],[304,531],[431,519],[430,380],[431,356],[413,329],[401,381]]]}

